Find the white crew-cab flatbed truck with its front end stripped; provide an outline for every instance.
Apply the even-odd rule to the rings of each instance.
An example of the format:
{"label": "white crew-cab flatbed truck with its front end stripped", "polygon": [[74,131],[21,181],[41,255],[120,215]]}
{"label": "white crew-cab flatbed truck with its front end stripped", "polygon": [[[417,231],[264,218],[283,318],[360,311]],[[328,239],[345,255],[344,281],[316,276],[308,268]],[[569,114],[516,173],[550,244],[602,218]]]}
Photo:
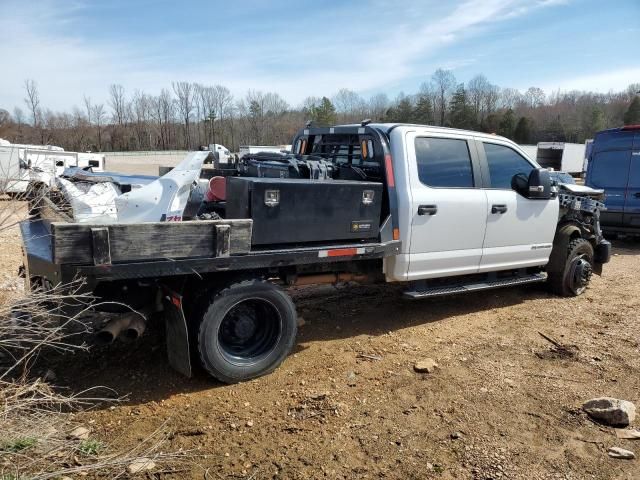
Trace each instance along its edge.
{"label": "white crew-cab flatbed truck with its front end stripped", "polygon": [[240,163],[180,221],[78,222],[59,192],[44,197],[31,206],[38,219],[21,224],[28,284],[83,278],[101,301],[133,309],[99,338],[135,337],[140,319],[163,318],[174,368],[191,375],[197,359],[231,383],[272,371],[293,347],[287,286],[401,282],[421,299],[547,282],[575,296],[610,258],[603,192],[553,184],[495,135],[307,126],[291,154]]}

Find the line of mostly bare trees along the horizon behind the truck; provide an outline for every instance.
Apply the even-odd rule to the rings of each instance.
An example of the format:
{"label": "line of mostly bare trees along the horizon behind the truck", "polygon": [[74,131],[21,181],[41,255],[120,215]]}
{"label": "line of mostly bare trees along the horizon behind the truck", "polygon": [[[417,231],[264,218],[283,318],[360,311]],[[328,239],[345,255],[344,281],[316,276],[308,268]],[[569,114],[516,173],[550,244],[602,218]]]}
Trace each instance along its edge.
{"label": "line of mostly bare trees along the horizon behind the truck", "polygon": [[458,82],[438,69],[413,94],[365,98],[341,89],[292,106],[278,93],[249,90],[235,98],[223,85],[172,82],[158,95],[110,85],[105,103],[83,96],[82,106],[54,112],[38,85],[24,82],[23,106],[0,108],[0,137],[12,143],[59,145],[72,151],[193,150],[221,143],[288,144],[307,121],[316,125],[406,122],[497,133],[518,143],[582,143],[599,130],[640,123],[640,83],[621,92],[526,91],[502,88],[484,75]]}

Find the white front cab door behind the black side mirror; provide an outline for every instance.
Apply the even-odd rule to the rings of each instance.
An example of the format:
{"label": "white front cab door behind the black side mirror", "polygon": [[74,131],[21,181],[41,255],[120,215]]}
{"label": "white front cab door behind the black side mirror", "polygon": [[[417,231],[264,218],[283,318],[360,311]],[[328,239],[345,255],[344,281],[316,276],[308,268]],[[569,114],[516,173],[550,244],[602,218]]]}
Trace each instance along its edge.
{"label": "white front cab door behind the black side mirror", "polygon": [[479,271],[545,265],[558,225],[558,199],[529,199],[511,188],[514,175],[528,176],[538,168],[512,144],[479,139],[478,150],[487,195],[487,230]]}

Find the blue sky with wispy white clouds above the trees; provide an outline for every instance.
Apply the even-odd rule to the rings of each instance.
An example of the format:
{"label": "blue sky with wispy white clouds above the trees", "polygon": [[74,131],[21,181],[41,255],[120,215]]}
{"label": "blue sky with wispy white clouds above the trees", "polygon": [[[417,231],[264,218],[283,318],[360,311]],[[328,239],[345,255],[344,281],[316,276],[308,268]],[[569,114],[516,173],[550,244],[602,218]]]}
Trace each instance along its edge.
{"label": "blue sky with wispy white clouds above the trees", "polygon": [[640,82],[640,0],[0,0],[0,108],[69,111],[172,81],[279,93],[418,91],[437,68],[501,87]]}

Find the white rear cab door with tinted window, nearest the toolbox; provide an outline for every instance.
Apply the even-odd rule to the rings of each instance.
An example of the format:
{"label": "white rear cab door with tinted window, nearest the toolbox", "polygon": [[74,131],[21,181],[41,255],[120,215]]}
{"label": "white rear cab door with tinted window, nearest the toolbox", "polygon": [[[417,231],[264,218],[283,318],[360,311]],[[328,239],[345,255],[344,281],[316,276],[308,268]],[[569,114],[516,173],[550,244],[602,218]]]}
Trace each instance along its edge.
{"label": "white rear cab door with tinted window, nearest the toolbox", "polygon": [[473,139],[406,133],[411,191],[408,280],[477,273],[487,197]]}

